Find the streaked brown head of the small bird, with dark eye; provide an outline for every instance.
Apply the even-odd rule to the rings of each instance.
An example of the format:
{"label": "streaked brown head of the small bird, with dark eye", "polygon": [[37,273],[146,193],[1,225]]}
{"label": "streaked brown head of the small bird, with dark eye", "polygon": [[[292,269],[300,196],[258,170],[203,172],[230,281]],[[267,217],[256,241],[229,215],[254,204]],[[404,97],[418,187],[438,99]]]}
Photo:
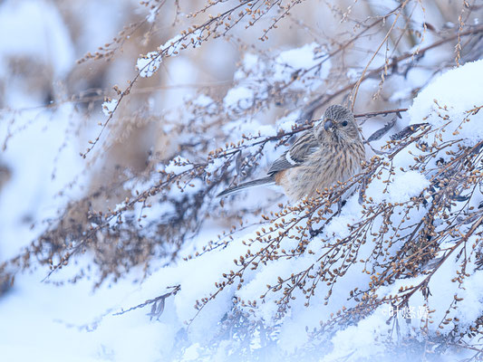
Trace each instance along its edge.
{"label": "streaked brown head of the small bird, with dark eye", "polygon": [[346,142],[360,139],[353,112],[338,104],[325,110],[324,119],[314,132],[315,137],[321,141],[327,138]]}

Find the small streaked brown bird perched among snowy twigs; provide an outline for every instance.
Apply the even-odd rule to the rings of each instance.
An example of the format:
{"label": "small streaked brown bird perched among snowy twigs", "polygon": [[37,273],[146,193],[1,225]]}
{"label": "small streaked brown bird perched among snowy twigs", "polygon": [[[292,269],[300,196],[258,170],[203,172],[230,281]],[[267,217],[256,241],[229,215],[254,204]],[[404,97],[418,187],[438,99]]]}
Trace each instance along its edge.
{"label": "small streaked brown bird perched among snowy twigs", "polygon": [[279,185],[285,195],[296,201],[317,190],[344,182],[361,170],[365,150],[353,112],[333,105],[324,119],[295,140],[291,148],[278,157],[268,176],[227,188],[217,196],[226,196],[252,186]]}

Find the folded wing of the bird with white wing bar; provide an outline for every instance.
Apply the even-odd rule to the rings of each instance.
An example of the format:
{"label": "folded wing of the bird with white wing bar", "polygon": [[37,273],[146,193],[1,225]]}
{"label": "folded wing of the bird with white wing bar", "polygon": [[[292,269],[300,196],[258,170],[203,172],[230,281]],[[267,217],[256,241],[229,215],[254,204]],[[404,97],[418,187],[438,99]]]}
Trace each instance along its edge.
{"label": "folded wing of the bird with white wing bar", "polygon": [[295,141],[291,148],[275,160],[268,170],[268,175],[302,165],[319,147],[319,142],[315,139],[313,130],[309,129]]}

